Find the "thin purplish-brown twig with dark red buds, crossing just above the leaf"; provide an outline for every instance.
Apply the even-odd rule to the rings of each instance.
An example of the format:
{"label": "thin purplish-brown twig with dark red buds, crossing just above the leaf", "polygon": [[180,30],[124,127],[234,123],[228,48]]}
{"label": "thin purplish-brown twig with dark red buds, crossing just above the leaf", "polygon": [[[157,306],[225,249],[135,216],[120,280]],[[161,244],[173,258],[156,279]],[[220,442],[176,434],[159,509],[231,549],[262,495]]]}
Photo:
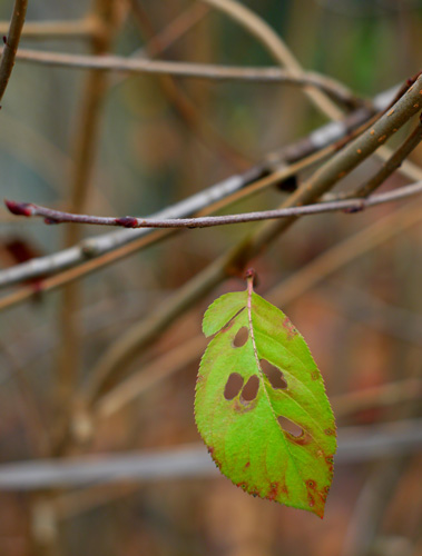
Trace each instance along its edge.
{"label": "thin purplish-brown twig with dark red buds, crossing just above the leaf", "polygon": [[24,217],[42,217],[46,224],[89,224],[99,226],[118,226],[122,228],[210,228],[214,226],[226,226],[230,224],[256,222],[261,220],[275,220],[278,218],[321,215],[323,212],[359,212],[370,207],[376,207],[384,202],[396,201],[413,195],[422,192],[422,181],[412,183],[410,186],[387,191],[385,193],[372,195],[367,198],[344,199],[337,201],[317,202],[314,205],[306,205],[304,207],[288,207],[275,210],[261,210],[255,212],[242,212],[239,215],[225,215],[225,216],[208,216],[197,218],[167,218],[167,219],[151,219],[151,218],[136,218],[133,216],[127,217],[107,217],[107,216],[89,216],[89,215],[73,215],[71,212],[63,212],[55,210],[31,202],[16,202],[6,200],[4,203],[13,215]]}

